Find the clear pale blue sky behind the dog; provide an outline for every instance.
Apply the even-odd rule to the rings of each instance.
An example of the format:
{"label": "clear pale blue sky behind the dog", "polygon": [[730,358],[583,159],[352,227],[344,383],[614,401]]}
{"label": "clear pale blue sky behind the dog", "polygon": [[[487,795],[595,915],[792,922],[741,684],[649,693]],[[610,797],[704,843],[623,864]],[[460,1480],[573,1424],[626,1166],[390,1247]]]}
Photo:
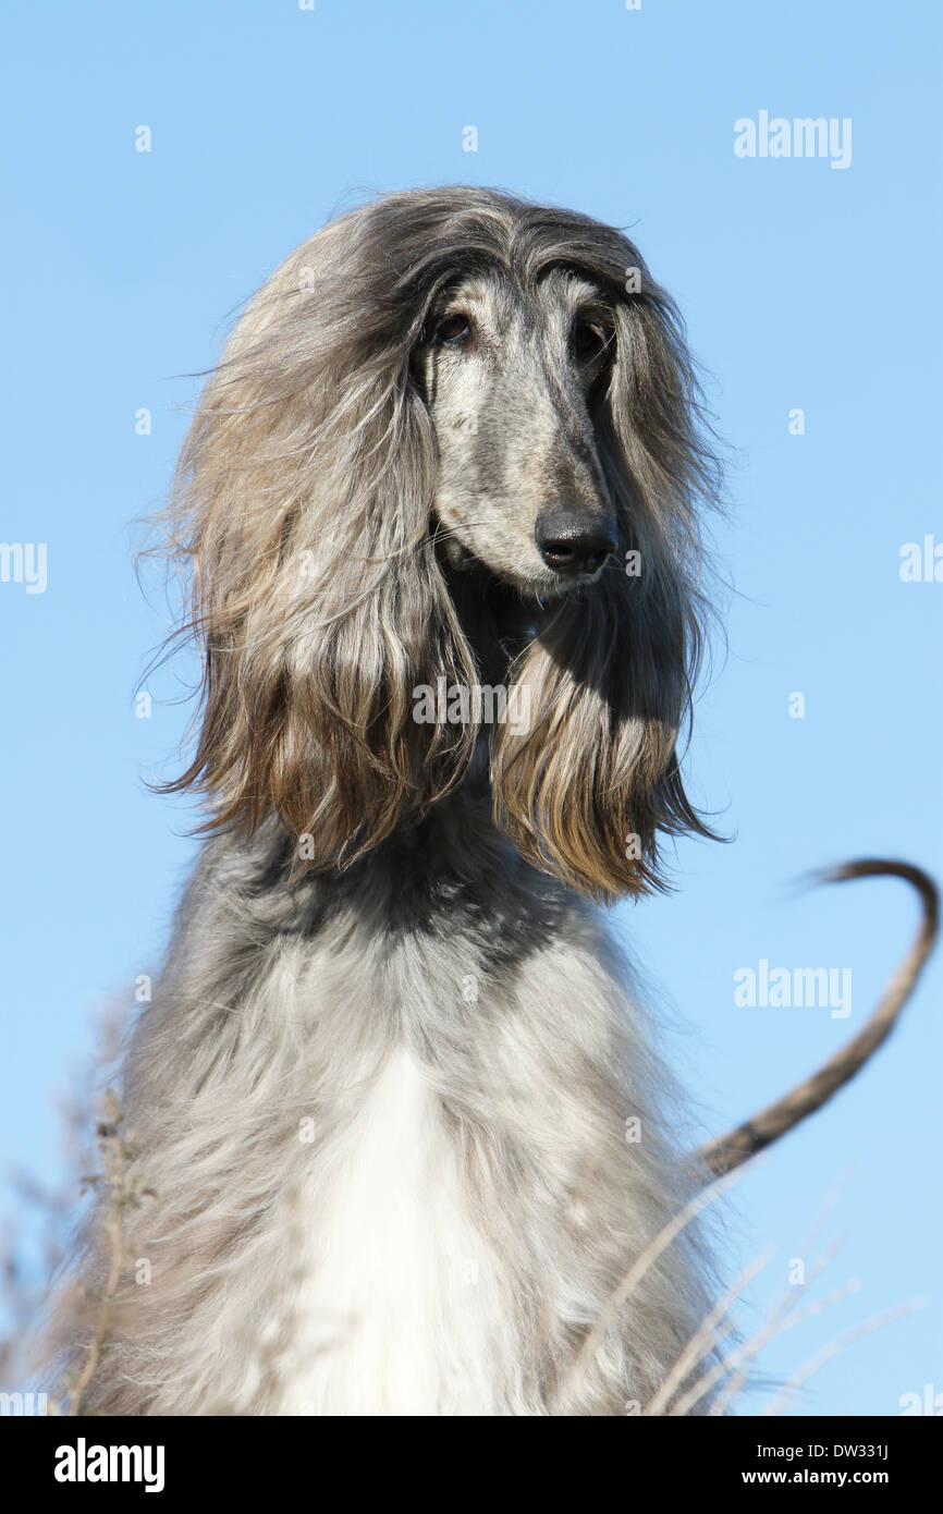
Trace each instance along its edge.
{"label": "clear pale blue sky behind the dog", "polygon": [[[165,625],[127,522],[168,483],[197,391],[174,375],[212,363],[226,316],[331,212],[450,180],[630,226],[708,369],[734,448],[716,545],[736,593],[689,771],[736,840],[683,843],[678,893],[619,922],[705,1126],[783,1092],[860,1026],[916,924],[902,884],[795,898],[790,880],[867,854],[943,874],[943,583],[899,578],[902,544],[943,542],[938,6],[11,0],[6,29],[0,539],[48,550],[45,593],[0,583],[6,1166],[54,1176],[54,1096],[95,1008],[130,1005],[156,964],[194,854],[186,810],[142,786],[171,771],[185,710],[133,713]],[[851,120],[851,167],[734,156],[734,121],[760,111]],[[733,974],[760,958],[851,967],[851,1016],[737,1008]],[[943,1391],[941,970],[737,1188],[733,1269],[778,1245],[760,1310],[851,1169],[826,1279],[861,1290],[775,1341],[770,1376],[931,1301],[831,1361],[798,1413]]]}

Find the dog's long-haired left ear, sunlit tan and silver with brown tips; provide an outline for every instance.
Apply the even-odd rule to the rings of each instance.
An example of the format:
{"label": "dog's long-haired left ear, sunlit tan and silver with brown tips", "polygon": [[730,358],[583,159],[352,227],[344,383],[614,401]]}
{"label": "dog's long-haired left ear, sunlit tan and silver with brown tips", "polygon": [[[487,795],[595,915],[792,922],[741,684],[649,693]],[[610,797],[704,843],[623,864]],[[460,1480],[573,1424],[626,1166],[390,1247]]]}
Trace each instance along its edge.
{"label": "dog's long-haired left ear, sunlit tan and silver with brown tips", "polygon": [[[416,686],[474,672],[430,545],[410,333],[357,288],[356,250],[318,245],[327,235],[256,297],[180,459],[173,530],[203,719],[167,786],[210,796],[207,828],[251,833],[274,812],[318,869],[422,810],[474,745],[413,718]],[[325,271],[338,265],[344,285]]]}

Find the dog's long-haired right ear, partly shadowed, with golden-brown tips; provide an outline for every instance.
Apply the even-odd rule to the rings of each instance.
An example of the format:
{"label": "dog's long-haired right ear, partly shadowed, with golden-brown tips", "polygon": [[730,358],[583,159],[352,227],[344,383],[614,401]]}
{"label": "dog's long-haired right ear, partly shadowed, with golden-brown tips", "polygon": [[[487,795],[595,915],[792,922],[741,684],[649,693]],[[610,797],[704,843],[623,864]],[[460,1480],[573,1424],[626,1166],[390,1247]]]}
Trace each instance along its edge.
{"label": "dog's long-haired right ear, partly shadowed, with golden-brown tips", "polygon": [[713,834],[687,799],[677,745],[708,613],[698,506],[716,501],[719,466],[677,307],[619,238],[622,273],[642,276],[627,297],[613,277],[618,233],[596,230],[599,245],[578,265],[615,301],[593,419],[627,551],[589,592],[562,601],[512,669],[530,687],[530,722],[496,731],[492,781],[518,849],[612,901],[664,887],[660,833]]}

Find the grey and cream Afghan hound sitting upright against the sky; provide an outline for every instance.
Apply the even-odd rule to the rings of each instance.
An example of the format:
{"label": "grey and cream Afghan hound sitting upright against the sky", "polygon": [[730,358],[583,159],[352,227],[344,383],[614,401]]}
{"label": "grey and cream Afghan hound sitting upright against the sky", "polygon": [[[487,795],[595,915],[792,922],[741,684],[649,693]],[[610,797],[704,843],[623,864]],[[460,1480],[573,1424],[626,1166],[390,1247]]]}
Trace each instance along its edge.
{"label": "grey and cream Afghan hound sitting upright against the sky", "polygon": [[727,1158],[681,1152],[596,905],[708,833],[701,415],[633,244],[489,189],[347,213],[250,303],[170,509],[168,787],[210,834],[126,1060],[85,1410],[624,1414],[683,1358],[711,1264],[658,1237]]}

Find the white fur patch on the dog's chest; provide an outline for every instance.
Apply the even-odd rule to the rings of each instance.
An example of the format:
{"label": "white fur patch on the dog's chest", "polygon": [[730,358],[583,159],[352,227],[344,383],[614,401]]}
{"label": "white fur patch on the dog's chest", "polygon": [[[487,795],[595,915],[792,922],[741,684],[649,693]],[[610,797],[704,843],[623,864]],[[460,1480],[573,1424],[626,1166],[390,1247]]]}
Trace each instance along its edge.
{"label": "white fur patch on the dog's chest", "polygon": [[493,1263],[422,1070],[397,1051],[303,1204],[283,1414],[495,1414],[515,1378]]}

